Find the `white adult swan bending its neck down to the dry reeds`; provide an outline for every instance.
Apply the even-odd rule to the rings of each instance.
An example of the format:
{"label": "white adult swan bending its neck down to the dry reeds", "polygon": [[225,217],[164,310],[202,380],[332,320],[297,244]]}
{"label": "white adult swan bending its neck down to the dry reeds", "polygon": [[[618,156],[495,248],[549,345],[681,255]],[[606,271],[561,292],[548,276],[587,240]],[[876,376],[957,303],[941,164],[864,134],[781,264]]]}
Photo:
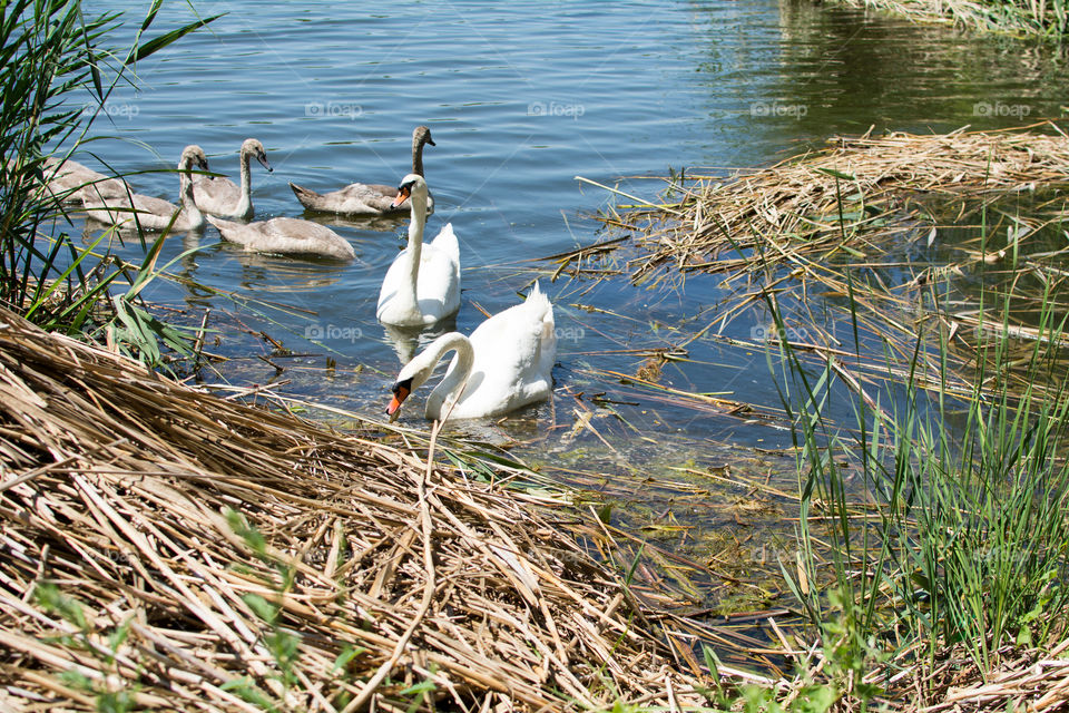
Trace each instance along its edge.
{"label": "white adult swan bending its neck down to the dry reeds", "polygon": [[526,302],[494,314],[470,338],[443,334],[405,364],[386,409],[390,420],[396,420],[401,403],[451,351],[449,370],[426,398],[429,419],[498,416],[549,398],[557,358],[553,328],[553,305],[536,282]]}

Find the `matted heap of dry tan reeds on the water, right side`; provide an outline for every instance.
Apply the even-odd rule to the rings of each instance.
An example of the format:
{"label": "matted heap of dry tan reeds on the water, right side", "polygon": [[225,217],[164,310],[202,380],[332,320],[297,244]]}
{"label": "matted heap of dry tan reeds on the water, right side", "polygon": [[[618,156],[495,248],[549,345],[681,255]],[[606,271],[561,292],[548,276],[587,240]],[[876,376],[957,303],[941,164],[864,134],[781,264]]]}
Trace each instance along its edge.
{"label": "matted heap of dry tan reeds on the water, right side", "polygon": [[[660,229],[644,231],[640,240],[649,254],[632,261],[634,280],[664,264],[727,273],[766,270],[769,264],[823,264],[844,250],[864,251],[879,232],[874,226],[909,196],[962,198],[1069,183],[1065,136],[962,129],[933,136],[835,137],[830,144],[726,180],[702,180],[678,205],[646,212],[666,222]],[[861,214],[844,224],[842,212],[855,208]],[[629,214],[631,222],[636,217]],[[904,223],[895,227],[915,228],[909,219]],[[753,254],[738,256],[735,251]],[[735,256],[719,260],[724,253]]]}

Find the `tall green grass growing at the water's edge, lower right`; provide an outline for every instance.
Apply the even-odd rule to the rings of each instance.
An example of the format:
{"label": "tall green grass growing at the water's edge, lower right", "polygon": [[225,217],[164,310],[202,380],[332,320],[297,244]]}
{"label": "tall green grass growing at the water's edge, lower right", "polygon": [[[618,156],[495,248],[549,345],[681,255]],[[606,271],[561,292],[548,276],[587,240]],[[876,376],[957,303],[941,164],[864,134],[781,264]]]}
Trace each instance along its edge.
{"label": "tall green grass growing at the water's edge, lower right", "polygon": [[[831,364],[814,368],[779,345],[802,453],[800,556],[784,572],[825,647],[862,662],[859,675],[877,657],[933,665],[952,648],[987,673],[1000,648],[1069,631],[1069,393],[1056,346],[1066,316],[1046,293],[1039,339],[1022,358],[1007,336],[1010,300],[981,300],[1001,320],[978,330],[964,399],[919,385],[925,352],[944,356],[949,377],[938,331],[918,336],[900,390],[873,401]],[[884,356],[891,380],[901,373],[894,354]],[[844,398],[855,413],[849,427],[828,416]]]}

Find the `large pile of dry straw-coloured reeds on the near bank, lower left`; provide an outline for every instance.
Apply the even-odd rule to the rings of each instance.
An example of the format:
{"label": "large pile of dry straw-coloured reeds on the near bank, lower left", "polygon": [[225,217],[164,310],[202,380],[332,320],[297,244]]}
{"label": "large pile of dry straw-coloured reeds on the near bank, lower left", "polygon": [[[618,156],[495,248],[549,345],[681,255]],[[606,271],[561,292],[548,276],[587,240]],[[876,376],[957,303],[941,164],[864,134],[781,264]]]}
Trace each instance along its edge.
{"label": "large pile of dry straw-coloured reeds on the near bank, lower left", "polygon": [[0,707],[700,702],[626,587],[538,514],[559,504],[429,450],[0,311]]}

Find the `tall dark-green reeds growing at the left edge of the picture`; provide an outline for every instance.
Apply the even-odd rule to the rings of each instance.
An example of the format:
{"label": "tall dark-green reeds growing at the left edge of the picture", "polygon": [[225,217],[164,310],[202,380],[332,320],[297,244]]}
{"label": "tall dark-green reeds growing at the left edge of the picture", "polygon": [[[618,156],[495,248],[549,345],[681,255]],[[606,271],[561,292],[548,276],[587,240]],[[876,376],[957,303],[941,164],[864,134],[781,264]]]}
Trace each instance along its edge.
{"label": "tall dark-green reeds growing at the left edge of the picture", "polygon": [[[133,345],[129,351],[151,362],[157,341],[170,343],[175,332],[137,304],[143,284],[136,283],[146,274],[139,266],[118,268],[99,251],[102,236],[89,246],[71,240],[66,211],[47,188],[55,168],[46,160],[66,159],[78,148],[96,116],[85,107],[102,107],[127,80],[128,67],[216,19],[147,38],[163,0],[146,7],[133,46],[118,49],[109,41],[117,13],[86,19],[78,1],[0,4],[0,304],[47,329],[110,326]],[[109,289],[124,276],[129,299],[109,301]]]}

